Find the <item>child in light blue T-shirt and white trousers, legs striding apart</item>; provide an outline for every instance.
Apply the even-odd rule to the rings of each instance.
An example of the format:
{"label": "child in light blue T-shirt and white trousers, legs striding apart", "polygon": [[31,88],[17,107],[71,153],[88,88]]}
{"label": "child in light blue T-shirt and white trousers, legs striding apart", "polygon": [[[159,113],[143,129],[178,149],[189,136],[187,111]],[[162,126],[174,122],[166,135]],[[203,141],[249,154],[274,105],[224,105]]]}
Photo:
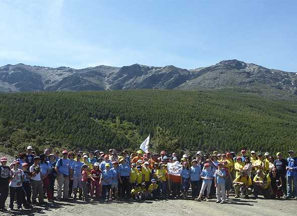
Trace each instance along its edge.
{"label": "child in light blue T-shirt and white trousers, legs striding apart", "polygon": [[197,201],[201,201],[201,198],[202,198],[202,195],[204,193],[204,190],[206,190],[206,201],[208,202],[209,199],[208,199],[208,196],[209,196],[209,193],[210,193],[210,187],[211,187],[211,183],[212,183],[212,178],[213,178],[213,172],[212,170],[210,169],[210,166],[208,163],[205,163],[204,164],[204,170],[201,172],[201,179],[203,180],[202,181],[202,186],[201,186],[201,190],[200,190],[200,194],[199,194],[199,197],[195,200]]}

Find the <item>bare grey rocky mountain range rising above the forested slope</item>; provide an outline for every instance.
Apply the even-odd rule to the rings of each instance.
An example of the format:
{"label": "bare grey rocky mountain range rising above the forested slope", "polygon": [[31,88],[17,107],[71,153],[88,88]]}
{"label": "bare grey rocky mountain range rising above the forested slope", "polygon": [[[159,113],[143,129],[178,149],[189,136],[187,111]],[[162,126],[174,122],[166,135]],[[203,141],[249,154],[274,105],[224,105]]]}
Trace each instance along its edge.
{"label": "bare grey rocky mountain range rising above the forested slope", "polygon": [[96,91],[126,89],[236,89],[269,97],[297,95],[297,73],[236,59],[183,69],[132,64],[84,69],[7,64],[0,67],[0,92]]}

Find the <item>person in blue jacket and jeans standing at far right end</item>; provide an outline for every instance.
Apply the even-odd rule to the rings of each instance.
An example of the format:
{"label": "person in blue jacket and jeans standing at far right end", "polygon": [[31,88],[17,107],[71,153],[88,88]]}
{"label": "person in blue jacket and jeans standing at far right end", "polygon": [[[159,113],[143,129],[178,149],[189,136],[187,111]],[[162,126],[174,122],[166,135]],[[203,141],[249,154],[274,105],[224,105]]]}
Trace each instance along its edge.
{"label": "person in blue jacket and jeans standing at far right end", "polygon": [[293,198],[293,197],[297,197],[297,158],[294,157],[293,150],[290,150],[288,154],[289,154],[289,157],[287,158],[287,166],[286,166],[286,170],[287,170],[286,197]]}

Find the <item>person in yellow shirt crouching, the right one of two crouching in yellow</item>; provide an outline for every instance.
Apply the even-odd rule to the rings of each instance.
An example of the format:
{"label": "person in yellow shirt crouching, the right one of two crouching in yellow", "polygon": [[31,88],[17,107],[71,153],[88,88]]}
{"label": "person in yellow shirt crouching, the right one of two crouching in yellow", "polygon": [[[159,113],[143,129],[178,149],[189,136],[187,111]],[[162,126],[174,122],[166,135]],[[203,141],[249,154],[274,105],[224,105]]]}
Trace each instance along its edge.
{"label": "person in yellow shirt crouching, the right one of two crouching in yellow", "polygon": [[270,194],[270,176],[269,174],[265,174],[262,170],[257,170],[257,174],[253,179],[254,181],[254,198],[258,198],[259,192],[261,192],[264,195],[265,199],[269,198]]}

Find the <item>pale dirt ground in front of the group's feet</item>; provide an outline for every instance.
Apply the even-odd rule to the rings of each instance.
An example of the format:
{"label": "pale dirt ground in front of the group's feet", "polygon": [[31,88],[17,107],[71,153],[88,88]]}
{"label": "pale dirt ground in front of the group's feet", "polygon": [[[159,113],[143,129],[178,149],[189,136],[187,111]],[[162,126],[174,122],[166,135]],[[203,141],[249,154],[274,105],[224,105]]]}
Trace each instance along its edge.
{"label": "pale dirt ground in front of the group's feet", "polygon": [[235,199],[228,204],[197,202],[193,200],[161,200],[139,202],[112,201],[85,204],[76,202],[54,202],[47,206],[36,206],[30,210],[15,210],[0,215],[297,215],[297,200]]}

